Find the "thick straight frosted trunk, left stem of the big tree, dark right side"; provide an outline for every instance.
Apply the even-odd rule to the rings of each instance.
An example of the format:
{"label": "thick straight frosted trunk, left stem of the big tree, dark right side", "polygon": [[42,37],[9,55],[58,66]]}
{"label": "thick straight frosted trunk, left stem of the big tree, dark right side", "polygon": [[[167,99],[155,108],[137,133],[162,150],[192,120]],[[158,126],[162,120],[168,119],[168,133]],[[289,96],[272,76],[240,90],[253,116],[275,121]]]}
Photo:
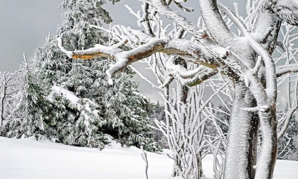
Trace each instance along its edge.
{"label": "thick straight frosted trunk, left stem of the big tree, dark right side", "polygon": [[226,150],[225,179],[253,179],[257,158],[257,139],[259,132],[258,116],[241,110],[254,107],[256,102],[250,90],[241,82],[235,83],[228,144]]}

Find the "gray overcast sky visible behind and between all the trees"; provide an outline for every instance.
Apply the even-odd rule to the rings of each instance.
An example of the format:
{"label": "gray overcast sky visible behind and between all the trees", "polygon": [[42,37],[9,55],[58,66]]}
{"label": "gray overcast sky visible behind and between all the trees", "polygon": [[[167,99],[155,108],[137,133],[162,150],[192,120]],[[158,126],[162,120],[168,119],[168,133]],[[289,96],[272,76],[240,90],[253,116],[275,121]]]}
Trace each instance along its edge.
{"label": "gray overcast sky visible behind and between all the trees", "polygon": [[[56,27],[61,24],[63,14],[62,10],[57,9],[63,0],[0,0],[0,71],[15,71],[23,60],[23,53],[27,58],[33,56],[38,47],[43,47],[48,32],[56,33]],[[240,14],[245,14],[244,0],[220,0],[228,7],[233,7],[233,2],[242,2],[239,4]],[[129,0],[121,1],[115,5],[107,2],[103,7],[106,8],[114,19],[113,24],[122,24],[135,29],[141,29],[136,24],[136,17],[129,13],[124,7],[128,4],[133,10],[141,10],[141,1]],[[187,17],[193,23],[197,22],[200,16],[198,1],[189,0],[187,7],[195,9],[193,13],[185,13],[179,10],[183,16]],[[141,29],[142,30],[142,29]],[[145,69],[147,66],[142,63],[135,63],[134,66],[141,70],[149,80],[155,82],[151,70]],[[136,76],[135,81],[140,82],[139,90],[151,101],[162,100],[148,82]]]}

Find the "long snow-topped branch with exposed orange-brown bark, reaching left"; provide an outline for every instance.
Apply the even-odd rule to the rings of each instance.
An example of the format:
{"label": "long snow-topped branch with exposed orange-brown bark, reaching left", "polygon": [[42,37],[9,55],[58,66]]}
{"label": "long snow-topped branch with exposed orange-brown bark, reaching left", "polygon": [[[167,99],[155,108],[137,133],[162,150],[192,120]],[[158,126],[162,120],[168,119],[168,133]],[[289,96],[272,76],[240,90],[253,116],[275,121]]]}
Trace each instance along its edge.
{"label": "long snow-topped branch with exposed orange-brown bark, reaching left", "polygon": [[[154,38],[142,31],[136,31],[134,32],[134,35],[136,38],[139,39],[139,41],[141,41],[142,43],[146,43],[128,51],[123,51],[117,48],[117,46],[106,47],[99,44],[87,50],[67,51],[62,46],[62,39],[58,38],[57,40],[59,42],[60,49],[65,52],[70,58],[116,58],[116,64],[110,65],[110,68],[106,72],[109,77],[110,84],[112,84],[112,76],[123,71],[129,64],[147,58],[157,52],[166,54],[178,53],[190,55],[195,58],[195,63],[197,64],[202,64],[215,70],[221,68],[221,66],[219,65],[221,60],[214,58],[212,54],[210,54],[204,47],[197,43],[187,41],[185,39],[173,39],[167,36]],[[205,71],[202,70],[201,73],[209,75],[211,73],[215,73],[215,71],[205,69]],[[195,79],[201,78],[202,75]]]}

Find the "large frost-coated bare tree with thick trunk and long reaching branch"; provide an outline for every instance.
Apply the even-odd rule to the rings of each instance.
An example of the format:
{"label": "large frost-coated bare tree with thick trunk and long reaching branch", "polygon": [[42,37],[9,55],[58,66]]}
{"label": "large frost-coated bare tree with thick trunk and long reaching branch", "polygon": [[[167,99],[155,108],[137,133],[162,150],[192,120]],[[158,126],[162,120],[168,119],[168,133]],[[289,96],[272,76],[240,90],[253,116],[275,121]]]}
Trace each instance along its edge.
{"label": "large frost-coated bare tree with thick trunk and long reaching branch", "polygon": [[[236,13],[233,13],[216,0],[199,0],[202,19],[207,27],[205,30],[172,10],[169,7],[171,3],[181,10],[192,11],[183,7],[180,1],[144,0],[139,23],[143,24],[145,32],[119,26],[123,33],[115,34],[118,44],[110,47],[96,45],[77,51],[64,49],[59,38],[60,49],[69,58],[114,58],[117,62],[106,72],[110,84],[113,84],[113,75],[152,55],[162,55],[167,59],[164,68],[168,78],[165,78],[164,84],[175,78],[181,85],[194,86],[217,73],[224,75],[233,84],[233,97],[223,176],[226,179],[271,179],[277,158],[277,136],[282,135],[276,131],[277,77],[298,71],[296,61],[295,64],[277,66],[271,55],[277,45],[281,46],[277,37],[282,31],[282,20],[298,25],[297,1],[249,0],[246,6],[248,16],[242,18],[237,6]],[[162,32],[160,26],[152,28],[150,25],[156,25],[158,14],[179,26],[172,35],[153,33],[156,28]],[[140,12],[137,15],[141,17]],[[237,33],[229,28],[232,23],[237,26]],[[190,40],[184,38],[184,32],[191,35]],[[125,37],[123,34],[126,34]],[[121,50],[124,45],[131,50]],[[285,46],[283,44],[288,52]],[[291,58],[294,57],[291,55]],[[198,64],[198,67],[187,69],[178,64],[181,60]],[[165,90],[166,99],[167,95]],[[259,125],[262,147],[257,160]],[[168,130],[167,135],[170,136]]]}

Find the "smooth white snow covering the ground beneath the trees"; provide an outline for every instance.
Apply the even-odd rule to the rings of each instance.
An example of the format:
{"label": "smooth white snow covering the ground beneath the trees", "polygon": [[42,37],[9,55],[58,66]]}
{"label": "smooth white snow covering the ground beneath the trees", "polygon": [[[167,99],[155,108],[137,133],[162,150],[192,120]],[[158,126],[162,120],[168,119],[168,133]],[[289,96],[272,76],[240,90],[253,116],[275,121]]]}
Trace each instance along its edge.
{"label": "smooth white snow covering the ground beneath the trees", "polygon": [[[122,148],[112,142],[99,151],[67,146],[35,137],[0,137],[1,179],[145,179],[141,150]],[[165,155],[148,152],[148,178],[167,179],[173,161]],[[206,177],[212,177],[212,156],[203,159]],[[278,160],[274,179],[297,179],[298,162]]]}

